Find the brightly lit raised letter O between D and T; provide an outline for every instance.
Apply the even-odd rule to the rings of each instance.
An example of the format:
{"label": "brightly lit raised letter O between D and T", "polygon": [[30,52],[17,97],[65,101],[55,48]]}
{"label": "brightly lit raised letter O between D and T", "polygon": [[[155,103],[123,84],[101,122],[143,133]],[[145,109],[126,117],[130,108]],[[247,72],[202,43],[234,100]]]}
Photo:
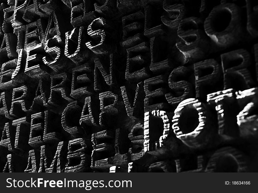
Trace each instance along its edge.
{"label": "brightly lit raised letter O between D and T", "polygon": [[189,98],[179,103],[174,113],[172,129],[177,138],[193,147],[212,144],[218,134],[217,117],[207,104]]}

